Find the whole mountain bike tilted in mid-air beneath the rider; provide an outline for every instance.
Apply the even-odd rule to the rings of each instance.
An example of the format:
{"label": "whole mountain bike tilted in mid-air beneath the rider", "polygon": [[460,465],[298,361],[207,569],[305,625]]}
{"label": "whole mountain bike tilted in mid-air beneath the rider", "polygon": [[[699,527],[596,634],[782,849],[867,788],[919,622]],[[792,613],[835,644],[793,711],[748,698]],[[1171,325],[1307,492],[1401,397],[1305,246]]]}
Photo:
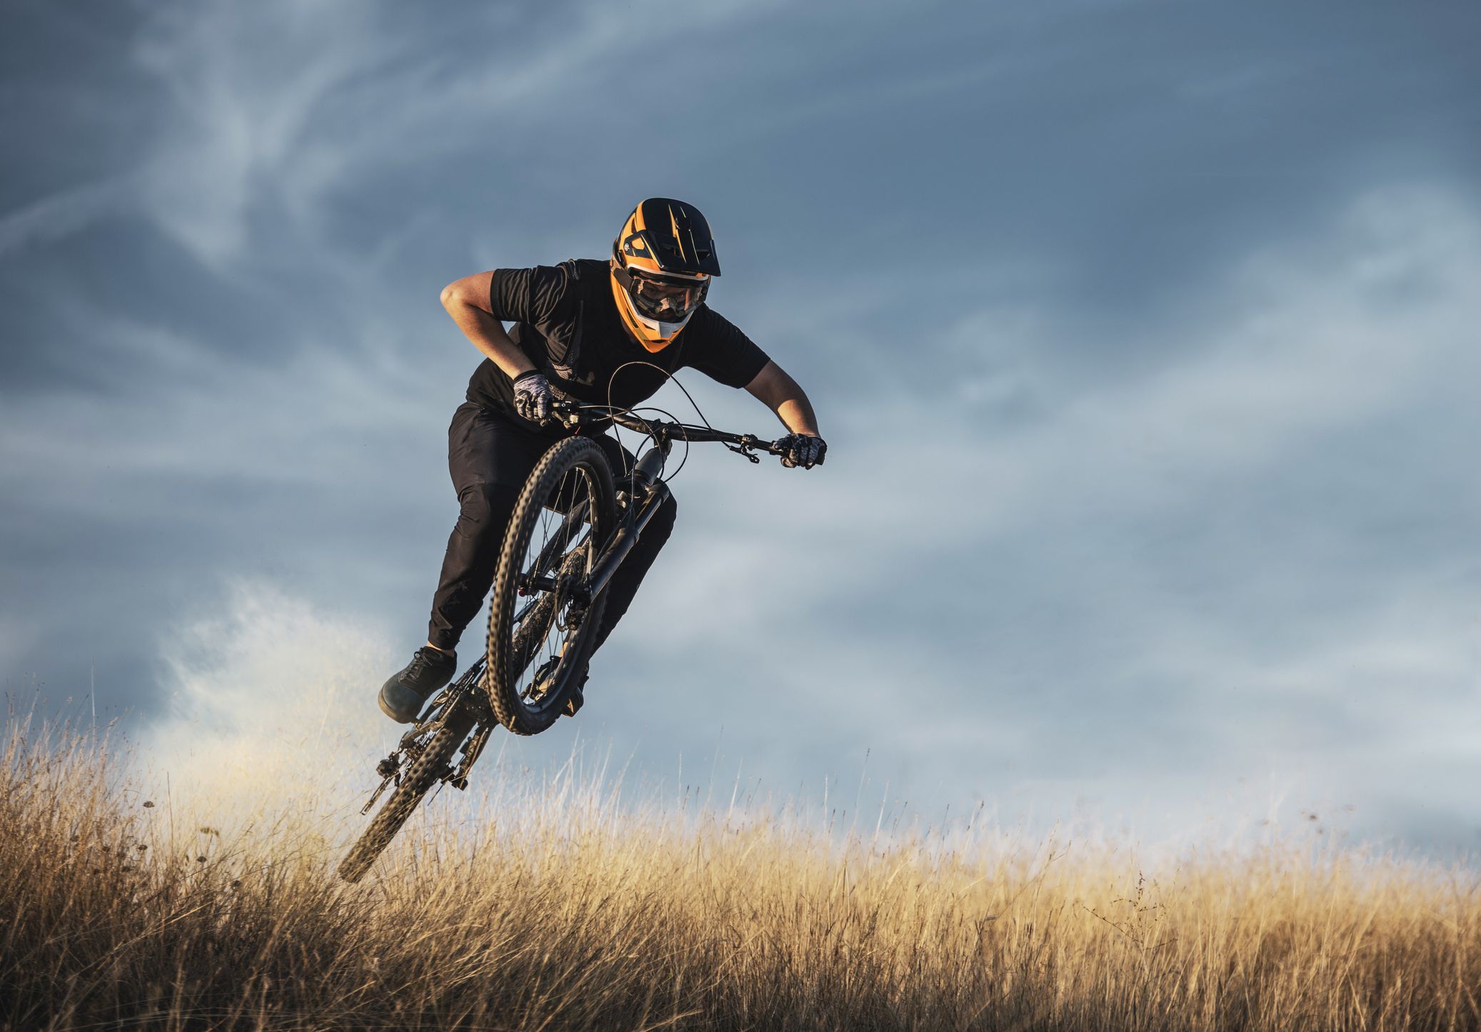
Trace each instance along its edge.
{"label": "whole mountain bike tilted in mid-air beneath the rider", "polygon": [[[499,549],[487,649],[432,696],[376,765],[381,785],[360,813],[370,813],[388,788],[391,794],[341,862],[345,881],[364,877],[432,786],[468,788],[468,771],[495,728],[538,734],[561,714],[575,715],[603,592],[669,496],[663,471],[675,443],[686,444],[686,460],[687,446],[701,441],[718,441],[752,463],[760,462],[757,452],[785,450],[751,434],[640,415],[649,409],[563,401],[555,410],[573,435],[541,458],[520,492]],[[647,438],[643,455],[621,475],[591,437],[582,437],[609,423]]]}

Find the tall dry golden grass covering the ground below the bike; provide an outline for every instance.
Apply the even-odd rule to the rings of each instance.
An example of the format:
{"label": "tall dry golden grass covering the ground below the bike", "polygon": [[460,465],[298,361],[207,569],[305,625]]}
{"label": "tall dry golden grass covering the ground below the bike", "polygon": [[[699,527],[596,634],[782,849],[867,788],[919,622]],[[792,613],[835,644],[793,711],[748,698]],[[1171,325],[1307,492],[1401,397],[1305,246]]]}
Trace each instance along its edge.
{"label": "tall dry golden grass covering the ground below the bike", "polygon": [[350,887],[302,820],[182,826],[127,770],[10,726],[7,1029],[1481,1028],[1465,871],[1269,848],[1152,879],[597,792],[480,828],[434,807]]}

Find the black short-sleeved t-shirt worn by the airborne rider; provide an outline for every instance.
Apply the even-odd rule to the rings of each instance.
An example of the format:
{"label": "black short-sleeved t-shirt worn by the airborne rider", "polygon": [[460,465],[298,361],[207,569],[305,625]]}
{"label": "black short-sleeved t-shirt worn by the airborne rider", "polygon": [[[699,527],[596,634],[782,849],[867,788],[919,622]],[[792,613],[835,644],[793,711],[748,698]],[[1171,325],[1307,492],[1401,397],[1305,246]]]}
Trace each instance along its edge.
{"label": "black short-sleeved t-shirt worn by the airborne rider", "polygon": [[[612,271],[603,261],[573,258],[560,265],[496,269],[489,308],[495,318],[514,323],[509,339],[551,386],[586,404],[609,404],[610,381],[610,404],[635,406],[663,386],[668,378],[659,369],[672,373],[689,366],[727,386],[745,386],[769,361],[751,338],[708,305],[695,311],[666,348],[647,351],[622,324]],[[624,369],[629,361],[650,364]],[[514,416],[514,386],[487,358],[468,381],[468,400]]]}

